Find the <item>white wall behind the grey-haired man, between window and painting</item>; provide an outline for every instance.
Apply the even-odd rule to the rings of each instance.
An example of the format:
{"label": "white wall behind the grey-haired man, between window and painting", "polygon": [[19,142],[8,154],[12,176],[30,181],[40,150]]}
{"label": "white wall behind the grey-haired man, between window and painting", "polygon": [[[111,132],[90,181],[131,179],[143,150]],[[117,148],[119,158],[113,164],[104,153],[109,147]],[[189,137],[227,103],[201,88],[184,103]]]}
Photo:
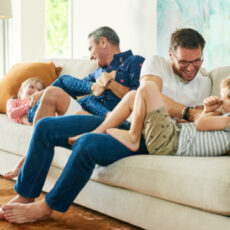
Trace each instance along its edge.
{"label": "white wall behind the grey-haired man, between window and painting", "polygon": [[156,53],[157,0],[73,0],[73,55],[88,57],[88,34],[110,26],[121,50],[148,56]]}

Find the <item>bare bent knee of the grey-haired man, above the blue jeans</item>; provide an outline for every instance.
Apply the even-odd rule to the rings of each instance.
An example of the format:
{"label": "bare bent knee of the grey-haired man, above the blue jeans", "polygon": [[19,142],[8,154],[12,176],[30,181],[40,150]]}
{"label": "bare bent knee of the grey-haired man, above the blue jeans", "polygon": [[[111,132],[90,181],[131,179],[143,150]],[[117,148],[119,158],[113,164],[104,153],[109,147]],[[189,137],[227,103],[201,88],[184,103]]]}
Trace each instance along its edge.
{"label": "bare bent knee of the grey-haired man, above the blue jeans", "polygon": [[48,87],[41,98],[41,103],[34,116],[33,125],[43,117],[64,115],[70,104],[70,96],[58,87]]}

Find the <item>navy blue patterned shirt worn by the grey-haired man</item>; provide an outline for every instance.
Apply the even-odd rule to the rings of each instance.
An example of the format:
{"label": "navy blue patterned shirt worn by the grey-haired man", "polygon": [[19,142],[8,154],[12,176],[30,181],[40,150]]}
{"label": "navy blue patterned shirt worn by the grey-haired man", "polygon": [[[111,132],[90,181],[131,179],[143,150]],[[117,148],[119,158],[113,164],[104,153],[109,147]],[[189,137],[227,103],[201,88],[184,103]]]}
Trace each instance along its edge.
{"label": "navy blue patterned shirt worn by the grey-haired man", "polygon": [[[144,58],[133,55],[131,50],[119,53],[113,56],[113,60],[109,66],[99,67],[94,72],[84,78],[86,81],[96,82],[103,72],[110,73],[117,71],[115,81],[129,87],[130,90],[137,89],[139,86],[139,78]],[[111,90],[105,90],[97,99],[108,109],[113,110],[121,100]]]}

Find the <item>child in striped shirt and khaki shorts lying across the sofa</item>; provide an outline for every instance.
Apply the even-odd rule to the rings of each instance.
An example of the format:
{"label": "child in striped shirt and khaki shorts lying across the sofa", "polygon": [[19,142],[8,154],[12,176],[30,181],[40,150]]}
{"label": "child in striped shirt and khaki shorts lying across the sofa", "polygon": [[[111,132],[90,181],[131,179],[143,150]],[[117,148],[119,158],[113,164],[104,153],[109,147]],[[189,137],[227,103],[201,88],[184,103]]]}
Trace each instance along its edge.
{"label": "child in striped shirt and khaki shorts lying across the sofa", "polygon": [[[137,151],[143,132],[149,154],[176,156],[221,156],[230,150],[230,77],[221,83],[221,99],[204,101],[202,115],[195,123],[175,124],[169,117],[157,85],[142,77],[136,93],[129,93],[93,132],[106,132],[131,151]],[[216,111],[220,106],[226,112]],[[130,130],[117,128],[133,111]],[[79,136],[69,138],[73,144]]]}

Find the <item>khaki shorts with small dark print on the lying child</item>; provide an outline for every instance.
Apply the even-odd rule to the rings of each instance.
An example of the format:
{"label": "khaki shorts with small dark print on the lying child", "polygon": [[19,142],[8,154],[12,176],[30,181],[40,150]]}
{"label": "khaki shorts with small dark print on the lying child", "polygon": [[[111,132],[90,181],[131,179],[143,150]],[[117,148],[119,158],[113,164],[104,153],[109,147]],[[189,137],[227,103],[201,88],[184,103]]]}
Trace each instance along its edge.
{"label": "khaki shorts with small dark print on the lying child", "polygon": [[174,155],[179,133],[165,107],[146,114],[143,135],[149,154]]}

